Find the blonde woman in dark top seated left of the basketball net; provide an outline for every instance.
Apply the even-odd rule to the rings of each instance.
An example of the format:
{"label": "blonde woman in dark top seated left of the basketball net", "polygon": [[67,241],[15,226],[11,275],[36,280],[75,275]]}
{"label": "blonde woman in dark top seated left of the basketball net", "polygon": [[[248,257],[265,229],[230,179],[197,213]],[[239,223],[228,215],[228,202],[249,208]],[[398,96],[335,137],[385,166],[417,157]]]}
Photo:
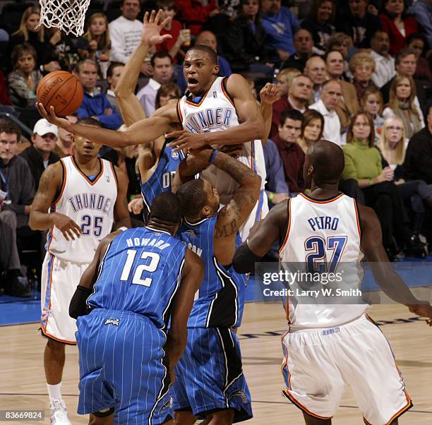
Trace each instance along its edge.
{"label": "blonde woman in dark top seated left of the basketball net", "polygon": [[40,8],[39,6],[30,6],[25,9],[21,16],[20,27],[13,32],[10,41],[11,50],[18,44],[28,43],[35,48],[37,56],[37,67],[40,71],[56,71],[60,69],[58,62],[51,61],[52,45],[47,40],[47,34],[44,25],[40,25]]}

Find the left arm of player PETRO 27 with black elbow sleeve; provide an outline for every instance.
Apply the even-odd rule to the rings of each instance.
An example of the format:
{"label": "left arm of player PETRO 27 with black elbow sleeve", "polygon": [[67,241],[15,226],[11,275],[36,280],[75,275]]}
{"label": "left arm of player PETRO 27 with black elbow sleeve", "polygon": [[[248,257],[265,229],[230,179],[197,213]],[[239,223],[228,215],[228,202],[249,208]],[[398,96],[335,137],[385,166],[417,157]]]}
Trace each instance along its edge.
{"label": "left arm of player PETRO 27 with black elbow sleeve", "polygon": [[253,273],[271,247],[284,236],[289,200],[278,203],[251,229],[248,239],[236,249],[232,265],[237,273]]}

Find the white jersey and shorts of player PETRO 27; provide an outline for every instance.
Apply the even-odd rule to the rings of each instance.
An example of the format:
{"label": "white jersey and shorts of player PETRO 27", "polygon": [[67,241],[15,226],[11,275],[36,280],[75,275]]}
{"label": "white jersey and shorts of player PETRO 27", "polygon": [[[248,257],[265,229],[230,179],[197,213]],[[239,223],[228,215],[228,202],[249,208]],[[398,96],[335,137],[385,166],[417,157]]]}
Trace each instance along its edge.
{"label": "white jersey and shorts of player PETRO 27", "polygon": [[[289,200],[289,225],[280,249],[282,268],[289,269],[284,263],[315,263],[314,259],[329,263],[329,268],[333,262],[336,267],[359,264],[360,238],[354,199],[340,194],[318,201],[299,194]],[[361,277],[357,275],[359,287]],[[356,274],[350,278],[356,279]],[[287,300],[289,331],[282,337],[284,395],[313,417],[331,418],[347,383],[366,424],[390,424],[412,406],[391,347],[366,316],[367,308],[367,304]]]}

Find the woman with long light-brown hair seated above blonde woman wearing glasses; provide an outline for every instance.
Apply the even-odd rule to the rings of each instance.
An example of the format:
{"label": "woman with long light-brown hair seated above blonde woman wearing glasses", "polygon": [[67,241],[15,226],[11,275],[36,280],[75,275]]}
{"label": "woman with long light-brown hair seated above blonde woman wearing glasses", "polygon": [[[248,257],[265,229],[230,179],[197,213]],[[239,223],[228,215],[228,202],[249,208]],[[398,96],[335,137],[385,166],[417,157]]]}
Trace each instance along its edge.
{"label": "woman with long light-brown hair seated above blonde woman wearing glasses", "polygon": [[385,119],[397,116],[404,124],[405,136],[411,138],[424,128],[424,119],[416,107],[416,85],[411,76],[397,75],[390,86],[390,99],[383,111]]}

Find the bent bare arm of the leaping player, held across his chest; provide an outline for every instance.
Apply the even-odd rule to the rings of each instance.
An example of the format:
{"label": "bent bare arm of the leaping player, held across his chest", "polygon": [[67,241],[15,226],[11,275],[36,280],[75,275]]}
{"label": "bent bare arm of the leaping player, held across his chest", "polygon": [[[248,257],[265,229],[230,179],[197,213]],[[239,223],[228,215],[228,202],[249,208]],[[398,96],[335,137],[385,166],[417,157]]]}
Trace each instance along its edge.
{"label": "bent bare arm of the leaping player, held across his chest", "polygon": [[198,149],[205,145],[220,144],[221,140],[224,145],[238,145],[263,139],[265,136],[263,116],[247,81],[239,74],[232,74],[227,79],[227,90],[234,99],[234,106],[241,122],[239,126],[223,130],[223,133],[212,131],[196,134],[186,130],[173,131],[167,135],[175,138],[169,146],[176,146],[176,150]]}

